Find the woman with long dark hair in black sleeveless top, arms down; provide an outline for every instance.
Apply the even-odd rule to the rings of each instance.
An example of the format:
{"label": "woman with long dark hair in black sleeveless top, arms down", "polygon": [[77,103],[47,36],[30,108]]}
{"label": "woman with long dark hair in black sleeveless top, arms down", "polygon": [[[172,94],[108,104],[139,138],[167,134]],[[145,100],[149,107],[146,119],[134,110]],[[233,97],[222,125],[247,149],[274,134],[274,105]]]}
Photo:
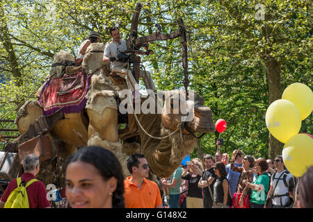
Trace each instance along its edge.
{"label": "woman with long dark hair in black sleeveless top, arms down", "polygon": [[223,162],[217,162],[214,166],[214,172],[218,177],[214,183],[214,204],[213,208],[230,207],[230,186],[226,178],[227,171]]}

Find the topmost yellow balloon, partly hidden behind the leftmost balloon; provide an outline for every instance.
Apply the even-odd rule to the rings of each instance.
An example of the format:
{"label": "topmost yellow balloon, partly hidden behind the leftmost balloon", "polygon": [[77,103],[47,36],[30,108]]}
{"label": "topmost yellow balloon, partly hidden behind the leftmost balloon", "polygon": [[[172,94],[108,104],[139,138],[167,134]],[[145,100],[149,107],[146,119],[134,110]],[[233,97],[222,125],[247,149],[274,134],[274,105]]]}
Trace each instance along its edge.
{"label": "topmost yellow balloon, partly hidden behind the leftmost balloon", "polygon": [[293,83],[282,93],[282,99],[287,99],[298,108],[301,120],[307,118],[313,110],[313,92],[303,83]]}

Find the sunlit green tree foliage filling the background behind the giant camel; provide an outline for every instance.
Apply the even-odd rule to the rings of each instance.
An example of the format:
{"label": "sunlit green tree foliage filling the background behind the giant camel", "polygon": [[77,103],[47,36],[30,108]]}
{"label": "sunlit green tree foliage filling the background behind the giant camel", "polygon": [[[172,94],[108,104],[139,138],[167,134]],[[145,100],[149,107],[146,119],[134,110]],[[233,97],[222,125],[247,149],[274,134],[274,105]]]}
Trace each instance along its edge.
{"label": "sunlit green tree foliage filling the background behind the giant camel", "polygon": [[[98,31],[109,42],[108,29],[119,26],[129,36],[137,1],[1,1],[1,33],[8,31],[22,85],[13,78],[5,43],[0,35],[0,71],[6,83],[0,87],[0,114],[14,119],[17,105],[35,92],[47,76],[55,53],[77,55],[89,31]],[[205,135],[202,151],[214,154],[216,139],[223,137],[223,153],[234,149],[256,157],[268,156],[265,112],[269,105],[266,62],[280,64],[279,86],[300,82],[312,88],[312,2],[276,1],[172,1],[143,0],[138,35],[178,30],[177,19],[191,31],[188,37],[189,89],[203,98],[214,122],[225,119],[224,133]],[[264,6],[264,19],[257,19],[257,3]],[[6,25],[6,26],[5,26]],[[7,29],[6,29],[7,28]],[[182,53],[179,39],[151,42],[152,56],[142,56],[158,89],[183,89]],[[31,96],[35,99],[35,96]],[[312,115],[300,133],[313,134]],[[196,149],[192,156],[197,155]]]}

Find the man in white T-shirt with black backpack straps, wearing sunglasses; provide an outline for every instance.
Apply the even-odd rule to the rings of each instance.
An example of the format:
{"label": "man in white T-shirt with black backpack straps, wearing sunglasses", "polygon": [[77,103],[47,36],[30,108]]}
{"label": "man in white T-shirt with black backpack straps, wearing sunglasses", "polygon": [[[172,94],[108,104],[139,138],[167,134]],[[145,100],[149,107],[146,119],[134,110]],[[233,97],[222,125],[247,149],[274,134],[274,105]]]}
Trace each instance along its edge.
{"label": "man in white T-shirt with black backpack straps, wearing sunglasses", "polygon": [[273,208],[284,208],[289,200],[288,181],[292,175],[284,167],[281,155],[275,157],[274,167],[277,171],[271,176],[271,189],[268,191],[268,197],[273,198]]}

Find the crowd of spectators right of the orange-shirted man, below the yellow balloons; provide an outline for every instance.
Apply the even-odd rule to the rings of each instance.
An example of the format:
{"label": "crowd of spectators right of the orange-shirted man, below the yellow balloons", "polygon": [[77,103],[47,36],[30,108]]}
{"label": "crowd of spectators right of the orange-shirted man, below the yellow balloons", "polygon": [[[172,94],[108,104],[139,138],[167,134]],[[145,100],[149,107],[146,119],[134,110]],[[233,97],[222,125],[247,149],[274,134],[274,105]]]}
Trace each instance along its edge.
{"label": "crowd of spectators right of the orange-shirted man, below the yellow balloons", "polygon": [[[194,158],[181,167],[182,186],[188,182],[188,191],[181,196],[186,198],[186,206],[180,204],[181,208],[296,208],[304,206],[302,201],[307,203],[306,207],[313,203],[313,182],[306,183],[306,191],[301,190],[307,195],[300,195],[303,178],[312,177],[313,167],[297,186],[299,178],[289,173],[281,155],[274,161],[262,157],[256,160],[235,150],[229,160],[227,153],[218,149],[214,157],[206,154],[202,161]],[[163,182],[161,187],[165,187]],[[170,202],[168,207],[174,208],[175,204]]]}

